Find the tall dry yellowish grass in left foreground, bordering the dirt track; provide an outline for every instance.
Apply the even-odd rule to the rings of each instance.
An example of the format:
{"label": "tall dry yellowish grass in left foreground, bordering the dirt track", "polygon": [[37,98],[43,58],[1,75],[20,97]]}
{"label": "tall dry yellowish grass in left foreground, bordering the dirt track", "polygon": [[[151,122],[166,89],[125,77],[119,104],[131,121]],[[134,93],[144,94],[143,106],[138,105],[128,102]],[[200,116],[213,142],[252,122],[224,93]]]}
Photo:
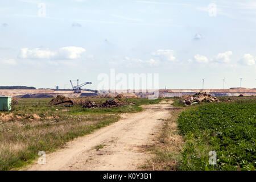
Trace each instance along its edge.
{"label": "tall dry yellowish grass in left foreground, bordering the dirt track", "polygon": [[0,122],[0,170],[21,167],[35,159],[38,151],[54,151],[65,142],[118,119],[117,114],[92,113],[67,115],[60,121]]}

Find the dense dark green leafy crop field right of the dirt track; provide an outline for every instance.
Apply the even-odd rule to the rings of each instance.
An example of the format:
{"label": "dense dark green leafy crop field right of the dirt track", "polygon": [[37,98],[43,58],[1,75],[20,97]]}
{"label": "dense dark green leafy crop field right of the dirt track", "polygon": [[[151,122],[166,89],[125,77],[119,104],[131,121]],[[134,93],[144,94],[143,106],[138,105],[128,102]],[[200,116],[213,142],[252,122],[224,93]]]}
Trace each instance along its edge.
{"label": "dense dark green leafy crop field right of the dirt track", "polygon": [[[185,146],[181,170],[254,170],[256,135],[255,97],[204,104],[183,111],[177,120]],[[217,165],[208,163],[217,152]]]}

